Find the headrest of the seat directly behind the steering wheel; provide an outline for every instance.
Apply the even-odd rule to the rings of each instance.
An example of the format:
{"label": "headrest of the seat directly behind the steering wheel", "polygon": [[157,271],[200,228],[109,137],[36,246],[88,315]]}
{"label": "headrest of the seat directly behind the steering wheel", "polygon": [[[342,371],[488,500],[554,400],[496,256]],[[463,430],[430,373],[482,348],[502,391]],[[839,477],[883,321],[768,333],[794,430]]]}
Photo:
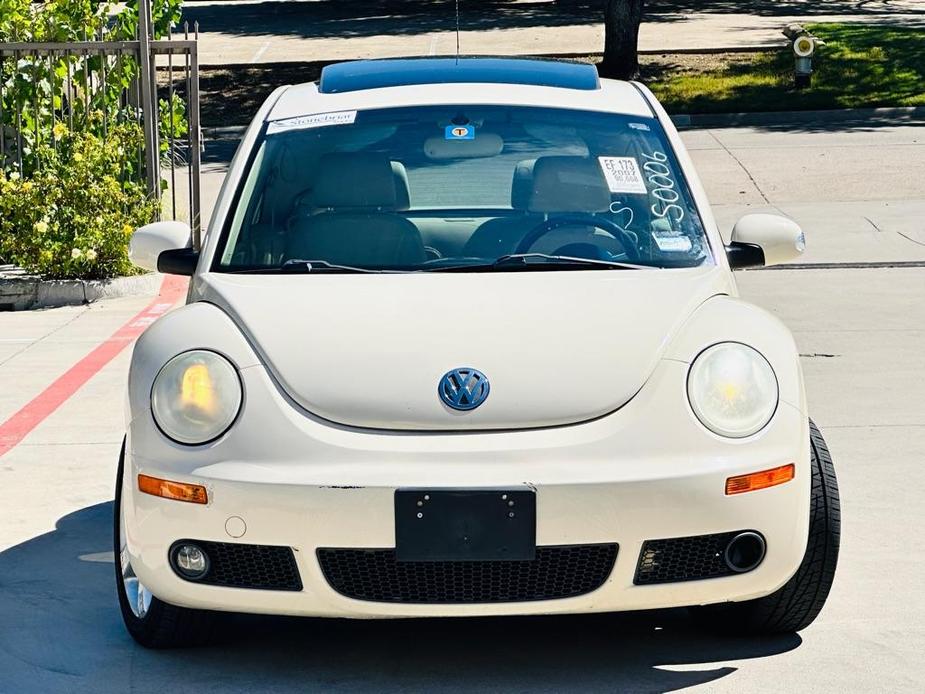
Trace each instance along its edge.
{"label": "headrest of the seat directly behind the steering wheel", "polygon": [[596,159],[540,157],[533,165],[531,212],[605,212],[610,189]]}

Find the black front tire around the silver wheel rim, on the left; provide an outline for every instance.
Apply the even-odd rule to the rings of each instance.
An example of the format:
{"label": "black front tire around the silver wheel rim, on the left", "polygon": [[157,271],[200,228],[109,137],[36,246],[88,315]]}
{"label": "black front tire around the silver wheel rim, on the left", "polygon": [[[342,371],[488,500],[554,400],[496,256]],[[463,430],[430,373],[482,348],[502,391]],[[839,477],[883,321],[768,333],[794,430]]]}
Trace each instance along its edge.
{"label": "black front tire around the silver wheel rim, on the left", "polygon": [[122,620],[132,638],[146,648],[180,648],[202,646],[211,643],[218,631],[218,612],[193,610],[169,605],[154,597],[151,607],[143,619],[132,612],[122,586],[122,571],[119,562],[119,504],[122,500],[122,477],[125,467],[125,442],[119,455],[119,471],[116,476],[115,504],[113,506],[113,553],[116,567],[116,594]]}

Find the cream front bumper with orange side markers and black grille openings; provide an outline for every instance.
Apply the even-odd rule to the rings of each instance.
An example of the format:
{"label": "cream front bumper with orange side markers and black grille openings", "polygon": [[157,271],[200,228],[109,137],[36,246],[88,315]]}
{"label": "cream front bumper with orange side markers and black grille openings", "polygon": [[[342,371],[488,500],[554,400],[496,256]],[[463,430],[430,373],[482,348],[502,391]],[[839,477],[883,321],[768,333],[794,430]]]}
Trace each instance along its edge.
{"label": "cream front bumper with orange side markers and black grille openings", "polygon": [[[809,521],[806,416],[781,403],[749,439],[723,440],[701,427],[675,385],[687,365],[670,360],[618,412],[585,424],[519,432],[402,434],[348,430],[297,411],[262,367],[242,369],[248,394],[220,441],[186,448],[164,439],[150,415],[129,427],[125,477],[128,549],[139,579],[185,607],[337,617],[413,617],[619,611],[747,600],[796,571]],[[657,412],[659,416],[652,417]],[[727,497],[726,478],[796,463],[796,478]],[[137,491],[138,473],[204,484],[209,504]],[[395,545],[399,488],[532,488],[537,544],[618,543],[604,584],[554,600],[413,604],[338,593],[318,548]],[[230,518],[243,519],[240,532]],[[751,572],[681,583],[634,585],[646,540],[753,529],[767,541]],[[179,539],[282,545],[294,551],[302,590],[229,588],[180,579],[168,552]]]}

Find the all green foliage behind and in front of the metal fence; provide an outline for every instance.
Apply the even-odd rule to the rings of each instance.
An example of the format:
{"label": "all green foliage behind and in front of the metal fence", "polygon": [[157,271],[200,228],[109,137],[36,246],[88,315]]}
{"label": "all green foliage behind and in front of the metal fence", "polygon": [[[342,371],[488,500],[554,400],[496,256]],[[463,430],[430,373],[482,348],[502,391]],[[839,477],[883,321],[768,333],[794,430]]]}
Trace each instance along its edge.
{"label": "all green foliage behind and in front of the metal fence", "polygon": [[[152,5],[153,33],[162,38],[182,0]],[[131,40],[137,28],[138,0],[0,0],[0,42]],[[0,264],[47,278],[136,272],[129,237],[159,205],[145,193],[140,129],[113,124],[138,120],[123,98],[138,65],[123,58],[101,67],[100,56],[79,54],[0,61]],[[172,156],[165,133],[186,134],[184,104],[175,95],[158,106],[160,154]]]}

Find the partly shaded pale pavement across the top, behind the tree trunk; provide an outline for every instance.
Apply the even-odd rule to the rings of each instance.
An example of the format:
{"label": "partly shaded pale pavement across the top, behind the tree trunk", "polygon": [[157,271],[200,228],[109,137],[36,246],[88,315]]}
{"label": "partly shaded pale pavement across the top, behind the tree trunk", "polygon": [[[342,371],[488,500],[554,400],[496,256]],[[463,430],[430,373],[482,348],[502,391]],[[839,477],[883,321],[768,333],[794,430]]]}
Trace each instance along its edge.
{"label": "partly shaded pale pavement across the top, behind the tree trunk", "polygon": [[[469,55],[593,54],[604,44],[599,3],[552,0],[460,3],[460,50]],[[845,3],[767,0],[719,3],[663,1],[650,8],[639,47],[648,53],[779,46],[791,22],[860,22],[921,26],[925,3],[898,0]],[[730,5],[741,11],[727,12]],[[206,0],[190,2],[184,19],[198,21],[203,65],[349,60],[456,52],[449,0]],[[734,7],[733,9],[736,9]],[[794,9],[799,12],[794,12]],[[789,13],[783,14],[783,12]]]}

